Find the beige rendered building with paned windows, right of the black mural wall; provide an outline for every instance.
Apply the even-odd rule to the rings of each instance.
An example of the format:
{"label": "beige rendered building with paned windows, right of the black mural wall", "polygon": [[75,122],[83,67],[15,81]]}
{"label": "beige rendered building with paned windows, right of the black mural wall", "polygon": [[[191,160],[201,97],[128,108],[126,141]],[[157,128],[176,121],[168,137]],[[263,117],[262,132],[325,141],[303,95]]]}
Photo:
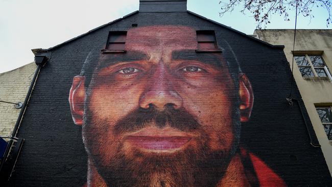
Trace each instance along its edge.
{"label": "beige rendered building with paned windows, right of the black mural wall", "polygon": [[284,54],[293,69],[305,108],[315,129],[332,173],[332,30],[255,30],[258,39],[284,45]]}

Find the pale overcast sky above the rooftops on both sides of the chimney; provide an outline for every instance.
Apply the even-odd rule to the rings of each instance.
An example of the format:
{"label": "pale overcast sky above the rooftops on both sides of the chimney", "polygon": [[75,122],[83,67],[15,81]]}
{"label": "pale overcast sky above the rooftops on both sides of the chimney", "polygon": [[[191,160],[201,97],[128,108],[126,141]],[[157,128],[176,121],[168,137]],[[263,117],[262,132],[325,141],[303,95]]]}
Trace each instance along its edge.
{"label": "pale overcast sky above the rooftops on both sides of the chimney", "polygon": [[[224,0],[229,1],[229,0]],[[0,73],[34,60],[31,49],[48,49],[138,10],[139,0],[0,0]],[[219,0],[188,0],[187,9],[246,34],[256,28],[250,13],[239,10],[219,17]],[[326,12],[314,11],[309,21],[298,17],[298,29],[326,29]],[[274,15],[267,29],[294,29]]]}

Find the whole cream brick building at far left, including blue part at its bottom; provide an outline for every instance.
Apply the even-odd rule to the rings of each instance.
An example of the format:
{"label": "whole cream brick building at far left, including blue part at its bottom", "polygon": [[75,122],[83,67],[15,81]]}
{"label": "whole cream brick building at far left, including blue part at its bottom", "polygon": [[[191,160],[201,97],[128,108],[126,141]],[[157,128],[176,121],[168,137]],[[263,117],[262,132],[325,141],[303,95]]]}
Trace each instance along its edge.
{"label": "whole cream brick building at far left, including blue part at its bottom", "polygon": [[24,142],[16,132],[32,90],[35,69],[32,62],[0,74],[0,180],[10,175]]}

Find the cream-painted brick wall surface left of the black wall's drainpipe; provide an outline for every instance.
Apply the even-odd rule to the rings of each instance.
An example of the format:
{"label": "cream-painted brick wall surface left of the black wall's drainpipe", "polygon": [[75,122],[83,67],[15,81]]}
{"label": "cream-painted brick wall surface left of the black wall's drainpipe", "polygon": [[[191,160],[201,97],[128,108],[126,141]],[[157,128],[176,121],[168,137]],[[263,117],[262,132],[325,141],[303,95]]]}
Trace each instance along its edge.
{"label": "cream-painted brick wall surface left of the black wall's drainpipe", "polygon": [[[31,80],[34,76],[34,62],[0,74],[0,100],[24,102]],[[0,136],[10,136],[14,129],[20,109],[13,104],[0,102]]]}

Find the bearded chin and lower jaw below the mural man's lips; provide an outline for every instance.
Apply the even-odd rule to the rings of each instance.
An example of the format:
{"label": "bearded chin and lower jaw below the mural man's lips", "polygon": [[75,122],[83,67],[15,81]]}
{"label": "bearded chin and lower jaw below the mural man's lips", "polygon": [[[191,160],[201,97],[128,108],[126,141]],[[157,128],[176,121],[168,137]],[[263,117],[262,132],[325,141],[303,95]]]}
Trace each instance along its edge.
{"label": "bearded chin and lower jaw below the mural man's lips", "polygon": [[[108,186],[215,186],[229,158],[204,147],[189,144],[178,150],[150,150],[122,146],[97,170]],[[94,156],[94,163],[105,160],[99,156]]]}

